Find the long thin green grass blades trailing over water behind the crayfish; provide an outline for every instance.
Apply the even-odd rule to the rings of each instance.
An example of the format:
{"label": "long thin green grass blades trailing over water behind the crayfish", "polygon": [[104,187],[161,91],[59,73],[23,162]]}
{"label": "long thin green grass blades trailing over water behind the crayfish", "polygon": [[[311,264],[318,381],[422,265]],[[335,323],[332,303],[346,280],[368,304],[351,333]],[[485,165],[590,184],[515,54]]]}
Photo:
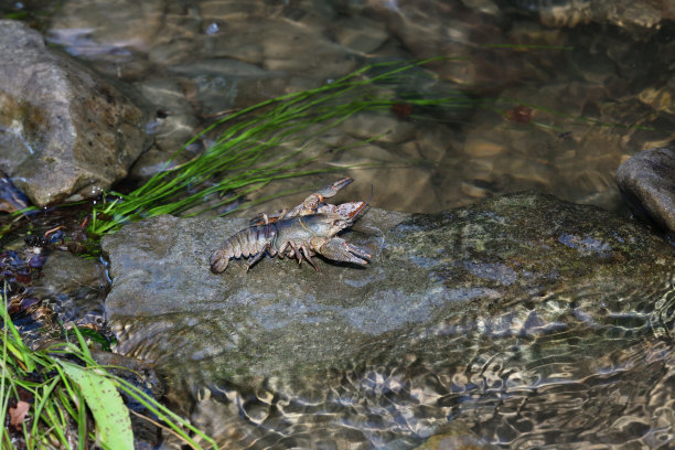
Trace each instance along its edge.
{"label": "long thin green grass blades trailing over water behind the crayfish", "polygon": [[[440,98],[415,98],[377,88],[410,78],[410,71],[416,67],[418,71],[414,75],[419,76],[418,66],[435,60],[438,58],[413,64],[368,65],[315,89],[262,101],[218,120],[183,147],[226,126],[203,153],[156,174],[129,194],[114,192],[116,200],[95,206],[89,234],[101,236],[124,223],[160,214],[182,214],[189,210],[189,215],[200,214],[233,203],[272,180],[336,170],[308,169],[314,158],[303,156],[303,149],[321,133],[360,111],[388,111],[401,101],[419,107],[473,107],[474,103],[465,96],[452,92]],[[366,76],[374,72],[379,73]],[[297,150],[283,150],[289,143]],[[204,205],[205,199],[226,192],[236,194]]]}

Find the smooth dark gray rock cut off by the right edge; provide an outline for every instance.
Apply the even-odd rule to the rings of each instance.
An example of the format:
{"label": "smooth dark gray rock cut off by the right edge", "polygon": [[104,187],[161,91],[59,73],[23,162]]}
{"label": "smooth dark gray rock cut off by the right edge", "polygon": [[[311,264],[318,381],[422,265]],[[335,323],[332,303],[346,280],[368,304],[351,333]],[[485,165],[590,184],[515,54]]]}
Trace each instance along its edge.
{"label": "smooth dark gray rock cut off by the right edge", "polygon": [[663,229],[675,233],[675,149],[642,151],[623,162],[617,184],[629,203]]}

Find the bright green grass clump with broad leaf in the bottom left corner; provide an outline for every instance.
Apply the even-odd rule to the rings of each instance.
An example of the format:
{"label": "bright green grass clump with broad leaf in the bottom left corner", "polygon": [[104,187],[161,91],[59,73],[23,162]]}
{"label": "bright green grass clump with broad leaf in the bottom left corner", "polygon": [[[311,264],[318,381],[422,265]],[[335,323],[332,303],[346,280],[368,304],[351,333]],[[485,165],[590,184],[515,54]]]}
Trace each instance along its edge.
{"label": "bright green grass clump with broad leaf in the bottom left corner", "polygon": [[64,342],[32,351],[9,318],[4,296],[1,309],[0,415],[9,427],[2,430],[0,448],[87,449],[96,443],[106,450],[132,449],[130,409],[119,394],[124,393],[190,448],[202,449],[191,438],[196,435],[210,448],[217,449],[211,438],[190,422],[97,364],[77,329],[74,329],[77,344]]}

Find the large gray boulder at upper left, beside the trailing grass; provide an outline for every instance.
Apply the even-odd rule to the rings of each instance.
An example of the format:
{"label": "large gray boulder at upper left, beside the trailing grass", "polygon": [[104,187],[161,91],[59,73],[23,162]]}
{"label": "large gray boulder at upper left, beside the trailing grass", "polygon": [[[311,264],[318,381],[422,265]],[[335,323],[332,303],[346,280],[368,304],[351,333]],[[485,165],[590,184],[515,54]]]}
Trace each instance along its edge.
{"label": "large gray boulder at upper left, beside the trailing grass", "polygon": [[38,206],[96,196],[149,143],[149,110],[21,22],[0,21],[0,169]]}

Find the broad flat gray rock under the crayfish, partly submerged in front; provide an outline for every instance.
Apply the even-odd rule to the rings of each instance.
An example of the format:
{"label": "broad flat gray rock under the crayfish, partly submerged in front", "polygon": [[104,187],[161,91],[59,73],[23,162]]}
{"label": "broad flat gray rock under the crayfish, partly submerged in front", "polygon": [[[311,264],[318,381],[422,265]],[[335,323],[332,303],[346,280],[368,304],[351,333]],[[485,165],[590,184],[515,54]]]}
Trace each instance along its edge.
{"label": "broad flat gray rock under the crayfish, partly submerged in front", "polygon": [[372,210],[344,236],[372,249],[364,268],[211,274],[245,226],[160,216],[103,240],[117,350],[152,362],[225,448],[410,448],[449,420],[486,442],[536,447],[555,429],[583,447],[635,438],[626,409],[667,419],[634,379],[675,371],[652,351],[673,326],[675,256],[639,223],[538,194]]}

